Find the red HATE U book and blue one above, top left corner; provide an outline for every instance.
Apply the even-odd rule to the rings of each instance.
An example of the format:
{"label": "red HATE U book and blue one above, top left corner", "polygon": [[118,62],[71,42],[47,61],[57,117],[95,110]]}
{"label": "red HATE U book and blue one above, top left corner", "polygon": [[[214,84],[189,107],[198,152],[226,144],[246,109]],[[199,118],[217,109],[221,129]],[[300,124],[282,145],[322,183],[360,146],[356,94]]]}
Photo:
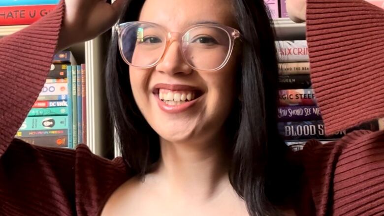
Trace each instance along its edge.
{"label": "red HATE U book and blue one above, top left corner", "polygon": [[0,26],[32,24],[58,3],[59,0],[0,0]]}

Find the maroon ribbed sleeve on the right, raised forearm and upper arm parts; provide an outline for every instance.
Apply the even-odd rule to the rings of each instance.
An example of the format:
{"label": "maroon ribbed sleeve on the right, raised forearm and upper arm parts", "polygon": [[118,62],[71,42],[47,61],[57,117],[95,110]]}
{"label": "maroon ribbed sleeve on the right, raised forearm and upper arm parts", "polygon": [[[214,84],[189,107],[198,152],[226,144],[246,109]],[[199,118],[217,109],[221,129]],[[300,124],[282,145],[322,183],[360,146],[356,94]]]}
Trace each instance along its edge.
{"label": "maroon ribbed sleeve on the right, raised forearm and upper arm parts", "polygon": [[[307,0],[307,41],[326,134],[384,117],[383,9]],[[325,145],[311,140],[299,154],[317,216],[384,214],[384,131],[353,131]]]}

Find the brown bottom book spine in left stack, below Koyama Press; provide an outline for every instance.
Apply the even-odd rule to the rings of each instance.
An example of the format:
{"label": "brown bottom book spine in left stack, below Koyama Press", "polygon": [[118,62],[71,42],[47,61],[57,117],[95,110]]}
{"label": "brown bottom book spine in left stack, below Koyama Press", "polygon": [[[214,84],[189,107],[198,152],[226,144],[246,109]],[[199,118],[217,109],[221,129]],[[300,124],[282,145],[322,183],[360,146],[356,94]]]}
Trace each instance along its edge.
{"label": "brown bottom book spine in left stack, below Koyama Press", "polygon": [[20,138],[24,142],[32,145],[44,146],[44,147],[64,147],[68,148],[67,136],[42,136],[42,137],[28,137]]}

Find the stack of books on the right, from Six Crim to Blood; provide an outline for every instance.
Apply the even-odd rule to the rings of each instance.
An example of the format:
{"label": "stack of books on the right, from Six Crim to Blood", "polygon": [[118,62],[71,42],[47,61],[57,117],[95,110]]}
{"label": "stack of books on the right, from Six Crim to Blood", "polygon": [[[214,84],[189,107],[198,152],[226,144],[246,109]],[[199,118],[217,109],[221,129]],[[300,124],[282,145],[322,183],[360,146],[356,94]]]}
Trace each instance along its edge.
{"label": "stack of books on the right, from Six Crim to Blood", "polygon": [[382,129],[380,123],[383,120],[376,120],[326,137],[310,79],[307,41],[277,41],[276,46],[280,61],[278,128],[293,150],[301,150],[309,139],[327,143],[340,139],[352,130]]}

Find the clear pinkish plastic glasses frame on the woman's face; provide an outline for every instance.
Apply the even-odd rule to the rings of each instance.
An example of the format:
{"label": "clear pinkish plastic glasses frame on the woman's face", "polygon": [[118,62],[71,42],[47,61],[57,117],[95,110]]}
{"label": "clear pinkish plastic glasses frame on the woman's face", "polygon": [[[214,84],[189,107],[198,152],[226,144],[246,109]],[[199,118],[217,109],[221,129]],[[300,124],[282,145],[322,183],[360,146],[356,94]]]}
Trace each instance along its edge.
{"label": "clear pinkish plastic glasses frame on the woman's face", "polygon": [[[140,26],[140,25],[143,25],[143,26],[148,25],[148,26],[156,27],[158,30],[161,31],[161,34],[164,36],[164,39],[166,39],[165,45],[163,45],[163,47],[160,48],[160,49],[163,49],[162,52],[160,50],[160,51],[158,51],[159,54],[155,54],[156,56],[158,56],[157,57],[158,58],[157,61],[151,62],[148,65],[135,65],[132,62],[128,61],[128,57],[125,54],[126,50],[124,50],[124,49],[126,49],[124,41],[125,41],[125,37],[127,37],[126,36],[127,33],[125,31],[127,29],[130,30],[130,28],[133,29],[133,27]],[[222,60],[217,60],[217,62],[221,62],[221,63],[218,63],[218,66],[215,66],[214,68],[201,68],[199,66],[195,66],[195,65],[193,65],[191,63],[191,58],[186,57],[186,51],[184,49],[187,49],[187,48],[184,47],[185,41],[183,41],[183,40],[185,40],[186,37],[189,38],[190,35],[187,35],[187,34],[189,34],[189,32],[197,31],[197,30],[199,30],[198,28],[203,29],[202,27],[203,28],[205,27],[205,28],[212,28],[212,29],[220,30],[220,32],[222,32],[222,34],[223,34],[221,36],[224,36],[224,38],[227,36],[227,39],[228,39],[227,41],[225,41],[225,42],[228,42],[228,44],[225,45],[225,46],[228,46],[227,47],[227,49],[228,49],[227,53],[225,54],[224,52],[222,52],[222,53],[224,53],[223,57],[225,56],[225,58],[222,58],[223,62],[221,62]],[[179,46],[180,47],[180,52],[181,52],[181,54],[183,56],[184,61],[192,69],[195,69],[195,70],[205,70],[205,71],[220,70],[220,69],[222,69],[225,66],[225,64],[230,59],[230,56],[231,56],[232,51],[233,51],[233,46],[234,46],[235,39],[240,37],[240,32],[238,30],[236,30],[234,28],[231,28],[231,27],[228,27],[228,26],[219,25],[219,24],[196,24],[196,25],[190,26],[189,28],[187,28],[186,30],[184,30],[183,32],[180,33],[180,32],[166,31],[164,27],[162,27],[162,26],[160,26],[158,24],[155,24],[155,23],[134,21],[134,22],[128,22],[128,23],[123,23],[123,24],[116,25],[115,26],[115,30],[118,33],[118,37],[119,37],[119,40],[118,40],[119,50],[120,50],[120,54],[121,54],[123,60],[128,65],[134,66],[134,67],[138,67],[138,68],[151,68],[151,67],[156,66],[159,62],[162,61],[162,59],[165,56],[165,53],[167,52],[167,50],[168,50],[169,46],[172,44],[172,42],[176,41],[176,42],[178,42],[180,44],[180,46]],[[130,33],[132,33],[132,32],[130,32]],[[189,41],[188,41],[188,43],[189,43]],[[136,49],[136,45],[135,45],[134,49]],[[133,53],[135,51],[130,51],[130,52],[132,52],[132,56],[133,56]],[[198,52],[197,52],[197,55],[199,55]],[[210,61],[210,59],[205,59],[205,60],[206,61]]]}

